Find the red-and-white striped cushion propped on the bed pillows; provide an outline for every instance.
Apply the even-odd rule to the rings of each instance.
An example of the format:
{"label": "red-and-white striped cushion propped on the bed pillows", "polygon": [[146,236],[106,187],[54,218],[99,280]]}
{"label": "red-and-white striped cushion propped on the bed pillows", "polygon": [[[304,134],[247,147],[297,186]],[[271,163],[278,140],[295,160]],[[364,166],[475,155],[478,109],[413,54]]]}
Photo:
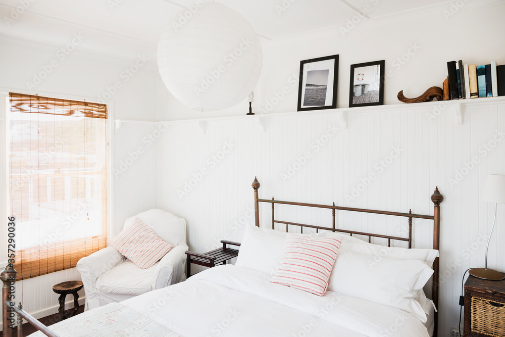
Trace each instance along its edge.
{"label": "red-and-white striped cushion propped on the bed pillows", "polygon": [[342,237],[287,234],[282,260],[271,282],[323,296]]}

